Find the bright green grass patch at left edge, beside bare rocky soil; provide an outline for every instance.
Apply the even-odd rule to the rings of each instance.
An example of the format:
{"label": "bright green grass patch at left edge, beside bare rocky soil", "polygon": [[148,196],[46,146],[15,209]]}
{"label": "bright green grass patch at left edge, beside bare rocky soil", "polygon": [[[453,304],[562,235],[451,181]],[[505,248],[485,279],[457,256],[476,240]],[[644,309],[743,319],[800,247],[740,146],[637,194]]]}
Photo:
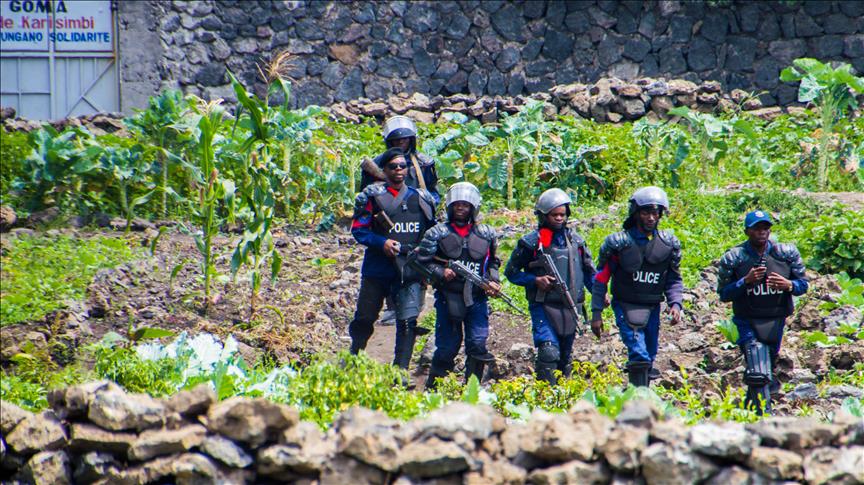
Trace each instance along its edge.
{"label": "bright green grass patch at left edge, beside bare rocky soil", "polygon": [[7,242],[0,258],[0,326],[38,321],[69,300],[82,300],[100,269],[134,256],[122,238],[38,236]]}

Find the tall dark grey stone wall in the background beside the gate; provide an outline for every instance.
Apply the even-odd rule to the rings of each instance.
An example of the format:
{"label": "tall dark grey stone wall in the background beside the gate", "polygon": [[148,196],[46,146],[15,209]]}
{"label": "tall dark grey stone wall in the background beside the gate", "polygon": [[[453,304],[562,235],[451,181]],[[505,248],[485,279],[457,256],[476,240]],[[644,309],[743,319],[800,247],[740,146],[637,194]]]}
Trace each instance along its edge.
{"label": "tall dark grey stone wall in the background beside the gate", "polygon": [[300,105],[516,96],[603,77],[718,81],[787,105],[795,88],[778,75],[797,57],[864,72],[853,1],[121,0],[119,11],[127,112],[157,84],[230,100],[226,68],[260,91],[256,63],[282,50]]}

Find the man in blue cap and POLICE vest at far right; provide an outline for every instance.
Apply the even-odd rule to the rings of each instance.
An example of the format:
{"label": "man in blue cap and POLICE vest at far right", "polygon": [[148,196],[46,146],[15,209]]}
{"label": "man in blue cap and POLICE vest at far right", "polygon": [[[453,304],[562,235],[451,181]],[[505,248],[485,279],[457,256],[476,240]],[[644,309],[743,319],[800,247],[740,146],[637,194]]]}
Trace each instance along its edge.
{"label": "man in blue cap and POLICE vest at far right", "polygon": [[771,392],[780,389],[772,370],[780,353],[783,326],[792,314],[793,296],[808,288],[804,262],[793,244],[771,242],[771,217],[755,210],[744,218],[747,241],[720,260],[717,292],[731,301],[738,345],[744,353],[747,407],[771,412]]}

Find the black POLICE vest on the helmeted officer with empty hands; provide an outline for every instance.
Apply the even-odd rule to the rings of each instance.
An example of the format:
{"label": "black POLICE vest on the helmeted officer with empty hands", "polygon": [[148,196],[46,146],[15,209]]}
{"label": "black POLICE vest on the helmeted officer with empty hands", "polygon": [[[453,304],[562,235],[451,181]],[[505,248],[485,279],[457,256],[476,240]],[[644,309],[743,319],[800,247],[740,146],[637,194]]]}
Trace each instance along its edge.
{"label": "black POLICE vest on the helmeted officer with empty hands", "polygon": [[655,305],[663,301],[672,247],[659,236],[645,246],[636,241],[618,253],[618,268],[612,275],[612,296],[628,303]]}

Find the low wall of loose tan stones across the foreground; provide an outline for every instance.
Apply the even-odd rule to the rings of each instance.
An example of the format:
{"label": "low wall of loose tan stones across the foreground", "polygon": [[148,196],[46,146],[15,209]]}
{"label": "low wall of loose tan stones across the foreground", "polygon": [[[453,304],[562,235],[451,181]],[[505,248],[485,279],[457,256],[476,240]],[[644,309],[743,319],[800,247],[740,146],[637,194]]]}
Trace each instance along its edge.
{"label": "low wall of loose tan stones across the foreground", "polygon": [[[768,418],[686,427],[630,402],[587,402],[508,423],[451,404],[398,422],[362,408],[326,433],[264,399],[216,402],[206,385],[167,400],[109,382],[53,391],[52,410],[0,403],[0,479],[25,483],[730,484],[864,482],[864,423]],[[643,481],[644,480],[644,481]],[[5,482],[4,482],[5,483]]]}

